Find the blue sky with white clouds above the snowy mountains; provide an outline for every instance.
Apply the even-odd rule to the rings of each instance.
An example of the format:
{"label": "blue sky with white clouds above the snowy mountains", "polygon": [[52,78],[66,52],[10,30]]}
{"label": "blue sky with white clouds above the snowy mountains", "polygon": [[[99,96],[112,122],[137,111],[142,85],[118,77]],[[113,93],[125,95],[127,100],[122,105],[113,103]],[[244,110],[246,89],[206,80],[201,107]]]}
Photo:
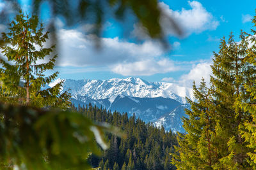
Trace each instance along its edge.
{"label": "blue sky with white clouds above the snowy mountains", "polygon": [[[20,1],[29,9],[29,1]],[[126,32],[114,18],[104,24],[102,49],[97,52],[92,36],[82,36],[81,30],[92,25],[78,25],[72,29],[57,18],[61,42],[58,66],[60,78],[100,79],[140,77],[147,81],[170,81],[190,86],[202,76],[209,81],[212,52],[218,52],[220,38],[234,32],[239,41],[240,30],[250,32],[256,1],[159,1],[159,6],[180,23],[185,35],[179,38],[172,29],[164,29],[172,50],[164,50],[159,42],[141,37],[138,24]],[[46,10],[47,11],[47,10]],[[47,22],[49,15],[42,13]],[[170,28],[164,21],[166,28]],[[130,25],[131,27],[131,25]]]}

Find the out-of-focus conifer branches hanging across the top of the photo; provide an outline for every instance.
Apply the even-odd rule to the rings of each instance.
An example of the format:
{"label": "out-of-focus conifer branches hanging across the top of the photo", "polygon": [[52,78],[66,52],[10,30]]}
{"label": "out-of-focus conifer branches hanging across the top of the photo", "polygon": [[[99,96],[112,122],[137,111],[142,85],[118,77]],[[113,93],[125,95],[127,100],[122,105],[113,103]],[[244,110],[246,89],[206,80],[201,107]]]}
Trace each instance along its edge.
{"label": "out-of-focus conifer branches hanging across the top of the photo", "polygon": [[[1,24],[4,24],[20,8],[18,0],[3,0],[3,4],[5,5],[1,11]],[[52,33],[52,44],[57,43],[57,45],[57,17],[63,19],[67,27],[83,24],[93,25],[90,35],[94,37],[96,47],[100,47],[102,29],[109,16],[121,22],[124,29],[124,24],[131,22],[127,16],[133,17],[133,24],[140,25],[143,33],[147,34],[149,38],[161,41],[166,48],[170,46],[170,43],[166,39],[164,30],[172,29],[178,36],[183,35],[179,23],[161,10],[157,0],[32,0],[31,5],[33,15],[40,17],[42,8],[44,8],[44,13],[51,16],[48,29]],[[161,25],[163,19],[168,22],[170,28]],[[84,31],[84,34],[88,34],[88,32]]]}

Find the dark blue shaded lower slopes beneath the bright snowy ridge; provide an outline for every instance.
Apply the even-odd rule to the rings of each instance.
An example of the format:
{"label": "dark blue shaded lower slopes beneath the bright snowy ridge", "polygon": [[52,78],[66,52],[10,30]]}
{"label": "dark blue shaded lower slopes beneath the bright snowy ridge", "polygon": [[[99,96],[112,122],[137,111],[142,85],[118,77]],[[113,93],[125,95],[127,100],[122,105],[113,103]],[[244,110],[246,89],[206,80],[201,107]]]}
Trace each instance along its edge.
{"label": "dark blue shaded lower slopes beneath the bright snowy ridge", "polygon": [[[89,103],[92,106],[96,105],[98,107],[106,108],[111,111],[119,111],[120,113],[127,113],[128,116],[132,116],[133,113],[137,118],[141,118],[141,120],[145,122],[155,122],[160,117],[166,115],[166,113],[170,113],[178,106],[181,106],[178,101],[174,99],[164,98],[164,97],[128,97],[123,95],[118,95],[115,97],[113,103],[109,102],[109,99],[92,99],[90,97],[85,96],[73,96],[71,101],[75,106],[86,106]],[[178,113],[179,115],[179,113]],[[164,127],[166,126],[163,124]],[[176,125],[176,124],[175,124]],[[175,128],[175,127],[173,127]],[[170,128],[169,128],[170,129]]]}

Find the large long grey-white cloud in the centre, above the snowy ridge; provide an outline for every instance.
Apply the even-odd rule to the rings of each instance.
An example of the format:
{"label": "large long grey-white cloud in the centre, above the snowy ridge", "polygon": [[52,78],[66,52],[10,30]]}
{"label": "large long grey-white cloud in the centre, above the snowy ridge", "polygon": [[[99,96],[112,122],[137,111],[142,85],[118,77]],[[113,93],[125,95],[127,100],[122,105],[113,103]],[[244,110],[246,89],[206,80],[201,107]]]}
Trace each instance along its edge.
{"label": "large long grey-white cloud in the centre, above the snowy ridge", "polygon": [[[164,49],[159,42],[136,44],[119,38],[100,38],[102,47],[97,49],[95,37],[74,29],[60,29],[58,38],[57,66],[108,68],[124,76],[149,76],[179,69],[172,60],[163,57]],[[179,46],[178,41],[173,43],[173,47]]]}

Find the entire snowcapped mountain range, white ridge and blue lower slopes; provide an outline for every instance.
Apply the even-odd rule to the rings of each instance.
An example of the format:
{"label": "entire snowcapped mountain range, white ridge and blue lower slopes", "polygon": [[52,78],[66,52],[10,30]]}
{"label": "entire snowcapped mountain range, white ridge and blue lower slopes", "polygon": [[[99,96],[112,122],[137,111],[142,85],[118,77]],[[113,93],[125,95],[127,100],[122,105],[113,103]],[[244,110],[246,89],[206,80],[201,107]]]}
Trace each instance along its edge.
{"label": "entire snowcapped mountain range, white ridge and blue lower slopes", "polygon": [[69,90],[75,106],[91,103],[111,111],[133,113],[145,122],[169,131],[184,132],[181,117],[184,117],[186,99],[193,100],[193,91],[173,83],[148,82],[140,78],[113,78],[110,80],[61,80],[63,92]]}

